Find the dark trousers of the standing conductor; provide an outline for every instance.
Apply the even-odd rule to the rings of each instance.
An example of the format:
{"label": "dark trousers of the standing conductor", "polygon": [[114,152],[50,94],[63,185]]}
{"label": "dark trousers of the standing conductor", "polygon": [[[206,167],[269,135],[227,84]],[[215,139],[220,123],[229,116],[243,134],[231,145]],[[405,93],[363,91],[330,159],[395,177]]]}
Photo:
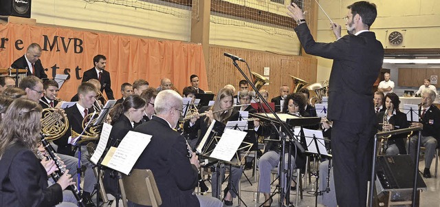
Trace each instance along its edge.
{"label": "dark trousers of the standing conductor", "polygon": [[366,206],[373,153],[373,118],[362,123],[333,120],[331,152],[340,207]]}

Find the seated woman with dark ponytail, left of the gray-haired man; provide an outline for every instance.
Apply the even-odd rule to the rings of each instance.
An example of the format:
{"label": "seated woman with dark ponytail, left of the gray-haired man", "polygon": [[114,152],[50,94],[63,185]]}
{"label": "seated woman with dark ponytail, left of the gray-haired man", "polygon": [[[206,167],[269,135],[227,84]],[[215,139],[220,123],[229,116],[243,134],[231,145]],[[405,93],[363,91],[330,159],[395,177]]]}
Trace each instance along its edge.
{"label": "seated woman with dark ponytail, left of the gray-haired man", "polygon": [[[108,146],[118,147],[126,133],[133,131],[134,123],[140,122],[144,116],[145,104],[145,100],[140,96],[131,95],[111,109],[111,125],[113,127],[109,135]],[[105,191],[116,196],[117,193],[120,193],[120,189],[116,185],[117,182],[116,174],[113,174],[111,169],[106,169],[104,173]]]}

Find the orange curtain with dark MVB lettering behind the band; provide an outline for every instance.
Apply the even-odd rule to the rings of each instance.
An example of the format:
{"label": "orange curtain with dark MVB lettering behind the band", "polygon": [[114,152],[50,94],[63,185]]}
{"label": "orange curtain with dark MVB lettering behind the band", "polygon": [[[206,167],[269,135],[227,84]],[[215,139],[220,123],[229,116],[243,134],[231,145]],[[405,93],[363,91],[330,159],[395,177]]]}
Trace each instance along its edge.
{"label": "orange curtain with dark MVB lettering behind the band", "polygon": [[190,75],[197,74],[201,89],[208,90],[208,83],[203,81],[208,79],[201,45],[8,23],[0,25],[0,68],[10,67],[31,43],[43,48],[41,63],[48,78],[69,74],[58,95],[63,100],[76,94],[83,73],[94,67],[96,54],[107,57],[106,70],[116,99],[121,97],[122,83],[139,78],[151,87],[159,86],[161,78],[170,78],[181,92],[190,85]]}

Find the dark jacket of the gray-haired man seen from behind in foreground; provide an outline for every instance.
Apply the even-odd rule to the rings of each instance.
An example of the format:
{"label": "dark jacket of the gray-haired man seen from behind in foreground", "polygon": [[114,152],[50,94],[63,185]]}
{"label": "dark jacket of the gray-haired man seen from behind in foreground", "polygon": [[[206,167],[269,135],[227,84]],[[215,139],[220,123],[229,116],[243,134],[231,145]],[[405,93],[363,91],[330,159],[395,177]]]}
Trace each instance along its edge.
{"label": "dark jacket of the gray-haired man seen from behind in foreground", "polygon": [[153,172],[162,197],[161,206],[200,206],[193,193],[199,182],[197,168],[189,161],[184,136],[157,116],[135,131],[153,135],[134,168]]}

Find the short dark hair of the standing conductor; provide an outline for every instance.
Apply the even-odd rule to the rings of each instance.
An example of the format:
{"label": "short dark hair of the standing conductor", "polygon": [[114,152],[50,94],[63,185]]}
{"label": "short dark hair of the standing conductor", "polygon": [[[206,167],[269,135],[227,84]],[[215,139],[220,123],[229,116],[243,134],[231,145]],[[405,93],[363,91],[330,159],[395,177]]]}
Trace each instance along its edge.
{"label": "short dark hair of the standing conductor", "polygon": [[347,6],[347,8],[351,9],[351,14],[353,14],[353,17],[356,14],[359,14],[360,17],[362,17],[362,23],[368,25],[369,28],[377,17],[376,5],[374,3],[370,3],[369,1],[358,1],[350,6]]}

